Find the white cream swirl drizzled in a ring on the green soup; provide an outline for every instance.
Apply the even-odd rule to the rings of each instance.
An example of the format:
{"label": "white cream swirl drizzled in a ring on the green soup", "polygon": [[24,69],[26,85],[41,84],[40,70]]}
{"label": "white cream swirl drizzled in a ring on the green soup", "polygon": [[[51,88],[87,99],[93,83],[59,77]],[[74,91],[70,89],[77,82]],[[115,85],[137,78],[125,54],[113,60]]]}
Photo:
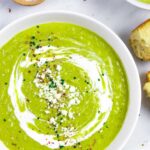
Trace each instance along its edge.
{"label": "white cream swirl drizzled in a ring on the green soup", "polygon": [[[55,60],[56,60],[56,59],[60,59],[60,58],[64,58],[64,57],[67,58],[65,55],[63,55],[63,51],[72,50],[72,49],[75,49],[75,48],[72,48],[72,47],[57,48],[55,46],[50,46],[50,47],[44,46],[42,48],[36,49],[35,54],[42,54],[42,53],[46,53],[47,51],[54,51],[58,54],[62,52],[61,53],[62,55],[58,55],[55,57]],[[99,131],[103,127],[103,124],[107,121],[110,111],[112,109],[112,99],[111,99],[112,98],[112,90],[111,90],[111,84],[110,84],[107,74],[105,74],[105,76],[103,77],[104,83],[106,84],[105,85],[106,88],[103,89],[103,86],[100,84],[100,82],[97,81],[100,74],[102,73],[98,63],[95,60],[90,60],[90,59],[85,58],[78,54],[72,54],[70,56],[71,56],[71,59],[68,59],[67,61],[69,61],[73,65],[76,65],[76,66],[82,68],[88,74],[88,76],[91,80],[92,88],[97,91],[96,94],[97,94],[97,97],[99,98],[99,109],[100,109],[101,113],[105,113],[105,116],[102,119],[102,121],[99,123],[98,122],[99,114],[96,113],[93,120],[88,125],[86,125],[84,128],[82,128],[80,131],[76,131],[73,127],[70,128],[70,131],[68,131],[64,128],[63,130],[65,131],[65,134],[70,137],[65,141],[54,140],[54,137],[55,137],[54,135],[46,135],[46,134],[37,133],[28,127],[29,123],[32,125],[35,125],[34,119],[36,118],[36,116],[34,114],[32,114],[26,107],[25,95],[22,93],[22,89],[21,89],[22,84],[23,84],[22,83],[23,74],[21,72],[19,72],[18,67],[27,68],[30,65],[37,63],[37,61],[36,60],[31,61],[29,58],[29,55],[27,55],[25,61],[16,62],[16,64],[14,65],[14,68],[13,68],[13,71],[11,74],[11,78],[10,78],[10,83],[9,83],[8,94],[11,97],[11,101],[12,101],[12,104],[13,104],[13,107],[15,110],[15,115],[20,122],[21,128],[26,132],[26,134],[28,136],[30,136],[35,141],[39,142],[41,145],[46,145],[49,148],[53,148],[53,149],[59,148],[60,145],[72,146],[72,145],[76,144],[77,142],[81,142],[81,141],[91,137],[95,132]],[[49,58],[41,58],[40,63],[38,65],[40,67],[43,65],[43,63],[45,61],[50,62],[52,60],[53,60],[53,58],[50,58],[50,57]],[[61,68],[61,66],[57,66],[57,69],[58,69],[58,71],[60,71],[62,68]],[[51,70],[49,70],[49,72],[51,72]],[[41,86],[38,84],[38,82],[36,80],[34,82],[35,82],[36,86]],[[69,86],[69,85],[66,85],[66,86]],[[43,88],[45,88],[45,87],[43,87]],[[75,87],[71,87],[70,90],[71,90],[71,92],[75,92],[75,93],[77,92],[77,89]],[[79,95],[79,93],[78,93],[78,95]],[[24,104],[24,106],[25,106],[24,111],[20,111],[19,106],[18,106],[18,100],[20,103]],[[75,101],[77,101],[77,103],[75,103]],[[78,105],[79,103],[80,103],[79,99],[72,99],[68,105],[70,107],[71,105]],[[66,115],[66,112],[63,112],[63,113],[64,113],[64,115]],[[71,118],[74,118],[73,112],[70,112],[69,116]],[[51,118],[50,122],[56,123],[55,118]],[[94,127],[94,129],[92,129],[93,127]],[[92,131],[88,132],[90,129],[92,129]],[[78,133],[79,133],[79,136],[77,136],[77,139],[74,139],[73,136],[78,135]],[[51,144],[51,143],[47,144],[47,141],[51,141],[53,144]]]}

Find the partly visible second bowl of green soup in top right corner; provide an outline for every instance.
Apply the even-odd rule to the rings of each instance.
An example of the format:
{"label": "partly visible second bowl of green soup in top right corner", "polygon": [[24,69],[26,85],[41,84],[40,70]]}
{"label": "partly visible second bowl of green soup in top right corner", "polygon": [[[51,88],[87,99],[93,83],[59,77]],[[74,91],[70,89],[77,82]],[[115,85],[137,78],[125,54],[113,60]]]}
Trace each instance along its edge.
{"label": "partly visible second bowl of green soup in top right corner", "polygon": [[127,0],[132,5],[136,7],[150,10],[150,0]]}

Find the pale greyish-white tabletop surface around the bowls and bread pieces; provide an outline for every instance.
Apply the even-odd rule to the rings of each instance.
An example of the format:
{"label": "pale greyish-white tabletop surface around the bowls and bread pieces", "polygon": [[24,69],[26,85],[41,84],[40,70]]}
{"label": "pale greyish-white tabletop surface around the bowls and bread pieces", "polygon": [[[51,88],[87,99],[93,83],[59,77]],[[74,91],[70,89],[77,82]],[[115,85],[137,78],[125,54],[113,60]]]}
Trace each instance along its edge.
{"label": "pale greyish-white tabletop surface around the bowls and bread pieces", "polygon": [[[8,8],[12,9],[11,13],[8,12]],[[44,10],[71,10],[92,16],[113,29],[127,46],[130,31],[145,19],[150,18],[150,11],[136,8],[125,0],[46,0],[34,7],[20,6],[11,0],[1,0],[0,29],[17,18]],[[150,62],[141,62],[137,58],[135,61],[143,82],[144,73],[150,70]],[[137,127],[124,150],[150,149],[150,101],[145,96],[142,101]]]}

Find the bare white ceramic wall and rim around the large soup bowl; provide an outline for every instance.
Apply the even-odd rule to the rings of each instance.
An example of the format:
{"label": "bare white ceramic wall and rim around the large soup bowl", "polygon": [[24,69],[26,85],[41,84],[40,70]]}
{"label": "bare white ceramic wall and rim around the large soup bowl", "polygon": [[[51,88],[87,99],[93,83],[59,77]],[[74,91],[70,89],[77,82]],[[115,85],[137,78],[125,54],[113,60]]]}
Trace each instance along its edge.
{"label": "bare white ceramic wall and rim around the large soup bowl", "polygon": [[64,11],[36,13],[9,24],[0,31],[0,46],[6,43],[16,33],[36,24],[46,22],[69,22],[88,28],[89,30],[94,31],[95,33],[103,37],[114,48],[114,50],[120,57],[129,81],[130,101],[128,112],[121,131],[116,136],[114,141],[110,144],[108,150],[121,149],[127,142],[136,125],[141,105],[140,79],[135,62],[129,50],[121,41],[121,39],[104,24],[88,16]]}

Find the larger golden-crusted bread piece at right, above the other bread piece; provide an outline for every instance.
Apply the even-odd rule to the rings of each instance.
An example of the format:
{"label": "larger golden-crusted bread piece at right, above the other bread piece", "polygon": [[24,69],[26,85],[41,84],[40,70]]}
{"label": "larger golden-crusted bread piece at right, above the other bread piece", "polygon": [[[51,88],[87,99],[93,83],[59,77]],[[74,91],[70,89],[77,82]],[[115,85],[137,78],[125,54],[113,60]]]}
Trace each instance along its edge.
{"label": "larger golden-crusted bread piece at right, above the other bread piece", "polygon": [[132,31],[130,44],[138,58],[150,60],[150,19]]}

